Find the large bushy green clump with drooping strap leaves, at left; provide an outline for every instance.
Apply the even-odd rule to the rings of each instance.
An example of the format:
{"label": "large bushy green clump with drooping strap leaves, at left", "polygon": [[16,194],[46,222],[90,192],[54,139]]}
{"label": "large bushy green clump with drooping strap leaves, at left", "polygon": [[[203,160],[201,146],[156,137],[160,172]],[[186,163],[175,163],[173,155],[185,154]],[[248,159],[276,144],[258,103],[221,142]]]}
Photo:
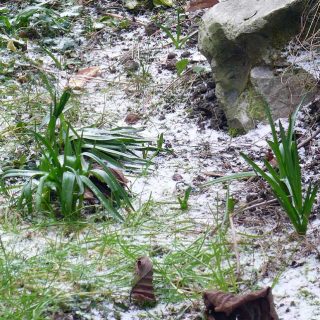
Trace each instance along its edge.
{"label": "large bushy green clump with drooping strap leaves, at left", "polygon": [[18,208],[27,208],[29,214],[46,210],[73,220],[79,218],[90,190],[107,214],[123,220],[118,208],[133,206],[116,170],[135,170],[147,163],[148,159],[142,159],[137,152],[142,155],[149,141],[130,128],[76,131],[63,117],[70,90],[58,99],[50,83],[45,84],[52,98],[47,129],[43,134],[31,131],[41,153],[38,164],[34,169],[4,170],[2,190],[7,190],[6,179],[23,178],[26,181],[22,187],[15,185],[21,188]]}

